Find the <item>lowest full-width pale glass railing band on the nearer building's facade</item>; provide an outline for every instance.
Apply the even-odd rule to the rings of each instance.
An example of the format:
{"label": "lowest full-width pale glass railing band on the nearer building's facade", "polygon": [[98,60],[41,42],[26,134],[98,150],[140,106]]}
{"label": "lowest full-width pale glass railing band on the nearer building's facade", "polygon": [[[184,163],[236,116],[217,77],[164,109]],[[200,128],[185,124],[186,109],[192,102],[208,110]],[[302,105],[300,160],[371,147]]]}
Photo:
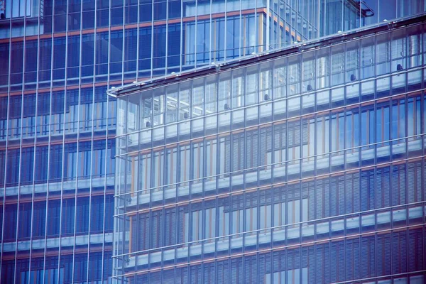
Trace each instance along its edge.
{"label": "lowest full-width pale glass railing band on the nearer building's facade", "polygon": [[[131,252],[116,257],[128,258],[126,269],[135,266],[173,261],[186,262],[191,257],[224,253],[229,251],[256,251],[259,248],[293,247],[312,245],[317,241],[342,239],[346,236],[363,236],[376,231],[403,229],[422,224],[426,215],[426,203],[414,202],[403,206],[386,207],[381,209],[345,214],[337,217],[316,219],[283,226],[273,226],[267,229],[245,231],[238,234],[217,236],[211,239],[189,241],[185,244],[163,246],[145,251]],[[131,238],[126,231],[124,239],[117,242],[118,246],[129,247]]]}

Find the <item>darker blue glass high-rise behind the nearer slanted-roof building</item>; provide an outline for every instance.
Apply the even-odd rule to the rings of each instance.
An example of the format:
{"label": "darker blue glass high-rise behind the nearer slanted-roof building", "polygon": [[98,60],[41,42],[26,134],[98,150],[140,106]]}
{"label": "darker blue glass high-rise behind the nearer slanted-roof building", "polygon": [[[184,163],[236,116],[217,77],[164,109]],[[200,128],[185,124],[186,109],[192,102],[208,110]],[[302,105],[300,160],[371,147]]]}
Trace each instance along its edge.
{"label": "darker blue glass high-rise behind the nearer slanted-roof building", "polygon": [[425,9],[362,3],[0,0],[0,283],[110,280],[116,100],[107,88]]}

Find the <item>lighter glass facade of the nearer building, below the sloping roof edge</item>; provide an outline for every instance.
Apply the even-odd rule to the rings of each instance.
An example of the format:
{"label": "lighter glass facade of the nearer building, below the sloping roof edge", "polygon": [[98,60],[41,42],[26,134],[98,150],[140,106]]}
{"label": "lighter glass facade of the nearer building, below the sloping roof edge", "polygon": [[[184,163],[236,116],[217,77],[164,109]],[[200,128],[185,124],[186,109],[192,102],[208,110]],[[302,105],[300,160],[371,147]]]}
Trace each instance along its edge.
{"label": "lighter glass facade of the nearer building, below the sloping roof edge", "polygon": [[114,277],[424,283],[425,21],[110,89]]}

